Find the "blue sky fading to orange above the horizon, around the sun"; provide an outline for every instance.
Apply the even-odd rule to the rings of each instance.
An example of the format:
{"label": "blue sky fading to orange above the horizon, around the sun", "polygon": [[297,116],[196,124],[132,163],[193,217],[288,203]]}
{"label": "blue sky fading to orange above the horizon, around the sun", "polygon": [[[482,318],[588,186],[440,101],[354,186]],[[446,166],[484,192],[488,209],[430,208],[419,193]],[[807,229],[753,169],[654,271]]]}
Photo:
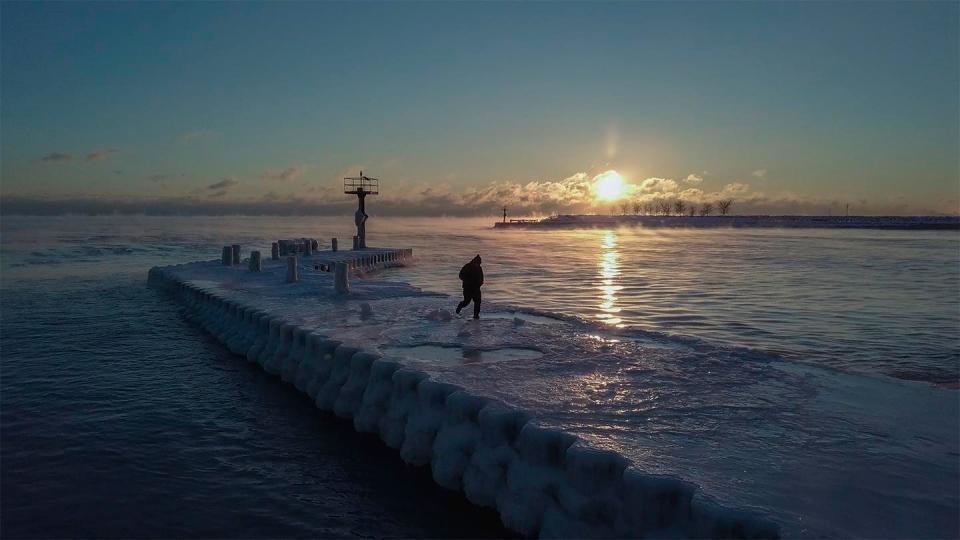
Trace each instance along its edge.
{"label": "blue sky fading to orange above the horizon, around the sun", "polygon": [[957,214],[958,6],[3,2],[0,210]]}

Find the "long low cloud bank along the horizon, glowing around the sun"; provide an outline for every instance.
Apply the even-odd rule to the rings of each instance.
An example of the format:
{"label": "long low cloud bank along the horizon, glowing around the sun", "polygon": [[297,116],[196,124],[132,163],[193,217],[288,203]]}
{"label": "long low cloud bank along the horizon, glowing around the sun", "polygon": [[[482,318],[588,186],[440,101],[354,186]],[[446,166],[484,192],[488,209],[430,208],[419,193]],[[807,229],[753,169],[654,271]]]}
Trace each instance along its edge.
{"label": "long low cloud bank along the horizon, glowing around the sun", "polygon": [[[263,178],[275,181],[285,169]],[[764,171],[766,172],[766,171]],[[960,201],[945,200],[939,208],[911,205],[905,198],[870,201],[867,199],[813,198],[794,194],[769,195],[741,181],[721,183],[706,189],[703,174],[691,173],[685,178],[650,177],[639,182],[627,181],[625,194],[616,201],[600,201],[595,196],[597,182],[615,171],[596,175],[578,172],[561,180],[529,182],[493,181],[483,187],[455,189],[449,184],[401,184],[387,189],[368,202],[374,215],[409,217],[478,217],[496,216],[506,206],[512,216],[547,216],[554,214],[609,214],[656,212],[658,204],[683,201],[687,208],[732,200],[733,214],[799,214],[826,215],[840,213],[850,205],[851,214],[859,215],[956,215]],[[756,176],[756,175],[753,175]],[[156,177],[160,181],[166,178]],[[203,188],[181,195],[117,197],[109,194],[44,197],[0,197],[4,214],[113,214],[147,215],[349,215],[356,205],[352,196],[344,195],[339,183],[301,184],[293,193],[268,191],[258,196],[230,196],[242,182],[227,177]]]}

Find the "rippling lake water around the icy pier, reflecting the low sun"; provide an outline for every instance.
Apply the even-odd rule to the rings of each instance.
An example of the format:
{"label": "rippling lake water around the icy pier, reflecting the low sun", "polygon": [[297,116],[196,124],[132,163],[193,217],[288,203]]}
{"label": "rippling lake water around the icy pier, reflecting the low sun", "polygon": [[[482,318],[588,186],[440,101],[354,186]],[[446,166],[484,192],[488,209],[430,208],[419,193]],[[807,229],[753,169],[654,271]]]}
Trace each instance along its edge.
{"label": "rippling lake water around the icy pier, reflecting the low sun", "polygon": [[[301,236],[346,244],[349,224],[312,217],[4,218],[2,532],[506,534],[496,516],[457,502],[434,488],[429,474],[404,467],[375,440],[236,362],[145,286],[151,266],[218,258],[224,244],[266,248]],[[942,402],[943,392],[956,399],[957,231],[490,225],[373,218],[368,234],[371,245],[412,247],[417,263],[384,275],[452,294],[451,310],[460,265],[480,253],[485,302],[579,317],[626,339],[702,341],[797,370],[900,380],[918,403],[929,396]],[[862,404],[880,398],[867,395]],[[952,452],[930,458],[947,463],[948,477],[956,474],[950,460],[958,459],[956,426],[945,431],[951,428],[953,438],[930,443],[934,453],[943,446]],[[958,494],[942,495],[934,523],[920,530],[956,530]]]}

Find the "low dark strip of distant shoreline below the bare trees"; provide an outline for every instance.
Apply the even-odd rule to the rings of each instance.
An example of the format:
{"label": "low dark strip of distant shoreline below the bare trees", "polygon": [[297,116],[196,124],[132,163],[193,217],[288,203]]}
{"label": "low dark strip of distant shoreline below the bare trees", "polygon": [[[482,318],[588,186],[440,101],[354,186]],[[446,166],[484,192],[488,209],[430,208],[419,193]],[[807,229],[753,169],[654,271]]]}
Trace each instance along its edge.
{"label": "low dark strip of distant shoreline below the bare trees", "polygon": [[960,230],[958,216],[631,216],[561,215],[494,223],[497,229],[580,229],[610,226],[655,228],[785,228]]}

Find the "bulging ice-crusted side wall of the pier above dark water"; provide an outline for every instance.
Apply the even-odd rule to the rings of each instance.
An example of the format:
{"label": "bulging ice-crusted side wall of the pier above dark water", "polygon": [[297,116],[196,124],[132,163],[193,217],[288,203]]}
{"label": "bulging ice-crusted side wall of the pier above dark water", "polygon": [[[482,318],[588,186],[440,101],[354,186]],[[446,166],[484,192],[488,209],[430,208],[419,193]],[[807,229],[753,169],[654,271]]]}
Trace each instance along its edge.
{"label": "bulging ice-crusted side wall of the pier above dark water", "polygon": [[[303,264],[297,283],[284,282],[285,270],[274,261],[264,261],[261,272],[211,261],[155,267],[149,282],[170,291],[190,319],[232,352],[294,385],[318,408],[352,421],[358,431],[378,434],[406,462],[429,466],[438,484],[495,508],[521,534],[779,535],[775,524],[723,508],[690,483],[646,474],[620,454],[545,426],[525,410],[381,357],[375,351],[389,330],[370,332],[358,321],[334,335],[336,327],[318,322],[322,317],[291,308],[304,298],[320,313],[340,310],[344,302],[384,299],[422,306],[435,295],[404,283],[361,279],[345,300],[336,294],[333,276],[312,271],[310,263]],[[370,312],[367,305],[360,318]],[[449,318],[442,311],[429,316]],[[502,322],[523,326],[521,319]],[[416,337],[397,341],[412,344]]]}

